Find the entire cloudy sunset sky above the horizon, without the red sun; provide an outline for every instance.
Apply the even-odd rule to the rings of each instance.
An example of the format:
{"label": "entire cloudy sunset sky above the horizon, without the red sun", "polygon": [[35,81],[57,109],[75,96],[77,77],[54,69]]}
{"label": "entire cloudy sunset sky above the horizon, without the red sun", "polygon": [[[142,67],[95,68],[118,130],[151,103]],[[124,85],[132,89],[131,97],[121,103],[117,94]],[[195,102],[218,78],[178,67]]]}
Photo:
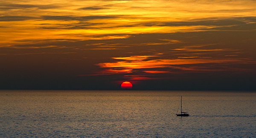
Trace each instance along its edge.
{"label": "entire cloudy sunset sky above the horizon, without the red sun", "polygon": [[255,0],[1,0],[0,89],[256,90]]}

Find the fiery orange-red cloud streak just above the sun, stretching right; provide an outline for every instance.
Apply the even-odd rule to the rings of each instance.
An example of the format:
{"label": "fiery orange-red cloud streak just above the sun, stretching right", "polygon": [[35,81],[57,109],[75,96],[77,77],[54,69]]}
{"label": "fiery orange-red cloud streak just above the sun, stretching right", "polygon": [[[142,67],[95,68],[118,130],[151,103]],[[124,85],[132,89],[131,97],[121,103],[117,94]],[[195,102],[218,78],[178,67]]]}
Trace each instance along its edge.
{"label": "fiery orange-red cloud streak just above the sun, stretching right", "polygon": [[[150,59],[157,56],[129,56],[129,57],[113,57],[113,59],[121,59],[125,61],[105,62],[96,64],[100,68],[108,68],[102,70],[101,73],[111,73],[109,70],[128,70],[129,73],[135,73],[141,70],[144,73],[174,73],[180,71],[248,71],[243,68],[226,67],[226,65],[237,64],[256,64],[251,59],[234,59],[234,58],[197,58],[197,57],[179,57],[177,59]],[[214,65],[214,66],[212,66]],[[217,67],[218,66],[218,67]],[[216,67],[216,68],[215,68]],[[162,70],[162,69],[163,70]],[[154,70],[145,70],[154,69]],[[159,70],[161,69],[161,70]],[[172,72],[170,70],[173,70]],[[115,73],[118,73],[117,71]],[[122,72],[125,73],[125,72]]]}

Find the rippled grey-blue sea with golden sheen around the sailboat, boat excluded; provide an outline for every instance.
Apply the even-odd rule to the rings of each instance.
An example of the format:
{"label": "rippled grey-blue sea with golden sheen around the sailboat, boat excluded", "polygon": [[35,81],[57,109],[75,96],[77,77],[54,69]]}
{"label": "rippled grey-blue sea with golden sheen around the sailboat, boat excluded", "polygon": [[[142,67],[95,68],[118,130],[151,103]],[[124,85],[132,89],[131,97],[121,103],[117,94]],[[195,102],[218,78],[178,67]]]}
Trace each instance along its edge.
{"label": "rippled grey-blue sea with golden sheen around the sailboat, boat excluded", "polygon": [[1,90],[0,137],[256,138],[256,92]]}

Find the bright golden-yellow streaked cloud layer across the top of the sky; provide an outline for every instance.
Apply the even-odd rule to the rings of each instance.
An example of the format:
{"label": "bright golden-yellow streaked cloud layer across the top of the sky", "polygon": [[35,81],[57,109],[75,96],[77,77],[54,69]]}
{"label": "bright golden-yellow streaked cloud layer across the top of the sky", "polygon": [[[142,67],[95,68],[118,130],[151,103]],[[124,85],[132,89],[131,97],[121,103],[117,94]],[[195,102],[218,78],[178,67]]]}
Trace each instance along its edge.
{"label": "bright golden-yellow streaked cloud layer across the top of the sky", "polygon": [[2,46],[106,38],[95,37],[99,35],[220,30],[233,25],[184,23],[256,16],[253,0],[8,0],[0,5]]}

